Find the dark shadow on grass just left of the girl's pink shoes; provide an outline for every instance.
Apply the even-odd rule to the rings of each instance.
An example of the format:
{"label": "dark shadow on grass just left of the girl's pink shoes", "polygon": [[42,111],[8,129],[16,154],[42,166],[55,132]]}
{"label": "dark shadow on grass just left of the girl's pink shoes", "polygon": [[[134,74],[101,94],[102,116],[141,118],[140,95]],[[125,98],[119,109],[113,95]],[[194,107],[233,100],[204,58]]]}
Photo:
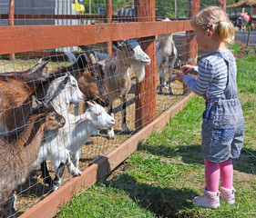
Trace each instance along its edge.
{"label": "dark shadow on grass just left of the girl's pink shoes", "polygon": [[142,208],[146,208],[157,217],[191,217],[192,214],[178,214],[182,208],[191,208],[192,196],[196,193],[184,188],[173,190],[148,183],[138,183],[136,178],[122,173],[110,181],[102,181],[107,186],[124,190],[131,199]]}

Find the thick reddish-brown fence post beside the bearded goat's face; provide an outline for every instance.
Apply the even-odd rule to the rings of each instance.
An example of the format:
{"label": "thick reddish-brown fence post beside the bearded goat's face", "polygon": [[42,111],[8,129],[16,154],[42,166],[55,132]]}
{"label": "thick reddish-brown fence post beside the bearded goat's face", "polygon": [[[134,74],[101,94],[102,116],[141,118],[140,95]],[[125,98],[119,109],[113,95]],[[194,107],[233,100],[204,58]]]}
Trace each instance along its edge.
{"label": "thick reddish-brown fence post beside the bearded goat's face", "polygon": [[[156,20],[155,0],[134,0],[138,22]],[[145,79],[136,84],[135,128],[143,128],[156,119],[157,114],[157,64],[155,36],[140,39],[141,47],[150,57],[151,63],[145,67]]]}

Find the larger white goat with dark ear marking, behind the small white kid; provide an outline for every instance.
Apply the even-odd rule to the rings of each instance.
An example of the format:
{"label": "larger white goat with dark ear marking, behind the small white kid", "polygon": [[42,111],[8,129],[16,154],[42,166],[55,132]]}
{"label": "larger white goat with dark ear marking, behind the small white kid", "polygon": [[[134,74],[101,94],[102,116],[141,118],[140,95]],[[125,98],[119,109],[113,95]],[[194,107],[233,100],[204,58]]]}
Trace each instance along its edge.
{"label": "larger white goat with dark ear marking, behind the small white kid", "polygon": [[[64,116],[66,120],[69,119],[69,116],[72,114],[68,113],[68,107],[70,103],[79,103],[84,100],[84,94],[78,88],[76,78],[67,73],[61,77],[58,77],[51,81],[50,84],[46,87],[46,99],[51,98],[52,104],[58,114]],[[69,129],[69,123],[66,122],[64,128]],[[55,154],[56,153],[56,154]],[[52,181],[48,171],[46,170],[46,159],[51,156],[59,156],[58,159],[65,159],[63,163],[67,163],[69,171],[73,175],[81,174],[80,171],[71,163],[70,159],[68,159],[68,151],[66,147],[58,147],[58,141],[55,141],[52,138],[46,140],[44,142],[38,152],[36,162],[34,163],[34,167],[37,164],[41,163],[42,174],[44,178],[44,182],[47,183],[50,187],[55,183]],[[57,180],[57,177],[56,179]]]}

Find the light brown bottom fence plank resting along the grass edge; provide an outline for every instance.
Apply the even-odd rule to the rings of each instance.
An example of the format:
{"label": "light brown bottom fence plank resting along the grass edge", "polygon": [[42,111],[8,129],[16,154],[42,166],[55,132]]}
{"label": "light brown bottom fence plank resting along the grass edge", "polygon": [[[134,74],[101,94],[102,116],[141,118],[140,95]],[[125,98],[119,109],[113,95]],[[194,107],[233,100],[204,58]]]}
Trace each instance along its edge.
{"label": "light brown bottom fence plank resting along the grass edge", "polygon": [[120,163],[125,161],[128,156],[138,149],[138,144],[148,138],[153,130],[161,131],[166,124],[169,123],[169,118],[179,111],[189,102],[189,99],[194,94],[189,94],[183,98],[178,104],[171,107],[167,112],[161,114],[147,127],[133,135],[125,143],[118,146],[106,156],[100,156],[97,161],[92,163],[81,176],[72,178],[68,183],[61,186],[55,193],[46,196],[45,199],[36,203],[26,213],[23,213],[20,218],[51,218],[59,212],[59,206],[65,205],[75,193],[80,192],[83,187],[88,187],[97,182],[99,178],[114,170]]}

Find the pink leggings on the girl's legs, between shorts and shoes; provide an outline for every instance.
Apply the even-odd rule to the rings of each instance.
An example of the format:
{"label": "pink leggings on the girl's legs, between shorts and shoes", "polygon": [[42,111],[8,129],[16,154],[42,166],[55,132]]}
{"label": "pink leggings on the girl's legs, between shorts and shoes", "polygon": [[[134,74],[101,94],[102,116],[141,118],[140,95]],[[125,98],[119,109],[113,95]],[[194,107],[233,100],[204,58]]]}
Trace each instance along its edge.
{"label": "pink leggings on the girl's legs, between shorts and shoes", "polygon": [[221,177],[221,186],[232,189],[233,164],[230,159],[221,163],[213,163],[204,159],[206,189],[210,192],[218,192]]}

